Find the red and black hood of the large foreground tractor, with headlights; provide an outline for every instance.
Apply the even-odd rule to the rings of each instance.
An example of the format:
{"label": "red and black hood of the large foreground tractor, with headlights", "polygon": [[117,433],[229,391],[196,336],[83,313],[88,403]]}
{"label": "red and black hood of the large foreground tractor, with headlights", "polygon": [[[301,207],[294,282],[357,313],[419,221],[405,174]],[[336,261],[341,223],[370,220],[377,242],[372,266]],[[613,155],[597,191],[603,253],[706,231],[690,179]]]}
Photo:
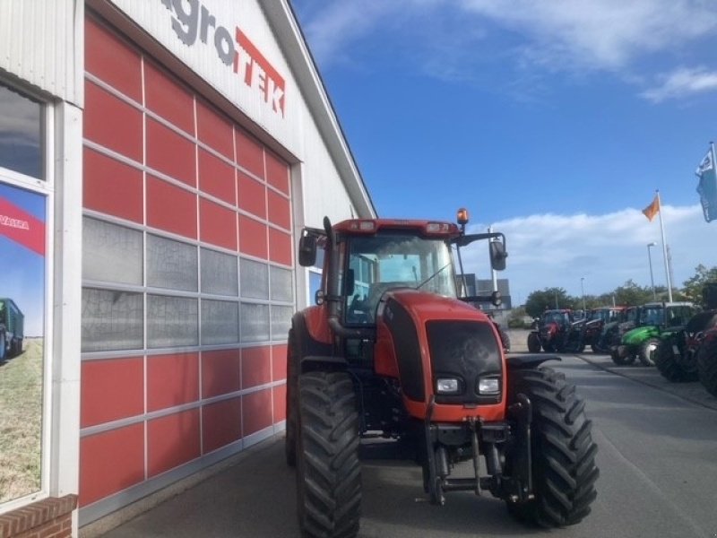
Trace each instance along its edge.
{"label": "red and black hood of the large foreground tractor, with headlights", "polygon": [[[376,371],[401,380],[414,403],[498,404],[505,394],[503,348],[495,325],[461,300],[397,289],[376,316]],[[455,389],[442,389],[450,380]]]}

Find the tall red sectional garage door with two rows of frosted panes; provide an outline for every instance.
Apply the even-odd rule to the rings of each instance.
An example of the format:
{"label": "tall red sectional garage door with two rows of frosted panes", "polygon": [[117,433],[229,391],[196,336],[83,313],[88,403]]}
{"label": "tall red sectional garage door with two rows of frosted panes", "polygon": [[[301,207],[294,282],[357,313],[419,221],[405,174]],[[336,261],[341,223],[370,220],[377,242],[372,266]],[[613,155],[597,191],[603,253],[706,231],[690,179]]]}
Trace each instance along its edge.
{"label": "tall red sectional garage door with two rows of frosted panes", "polygon": [[271,435],[294,305],[288,164],[93,18],[85,48],[83,507]]}

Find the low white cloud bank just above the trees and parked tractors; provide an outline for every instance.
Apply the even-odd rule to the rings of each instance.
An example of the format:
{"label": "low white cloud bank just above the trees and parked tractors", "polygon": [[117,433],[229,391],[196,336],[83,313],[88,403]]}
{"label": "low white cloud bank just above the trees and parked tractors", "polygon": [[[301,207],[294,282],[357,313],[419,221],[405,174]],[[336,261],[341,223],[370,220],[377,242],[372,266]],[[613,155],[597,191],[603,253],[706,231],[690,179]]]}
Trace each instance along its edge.
{"label": "low white cloud bank just above the trees and parked tractors", "polygon": [[[704,221],[699,204],[662,207],[665,237],[672,258],[673,288],[695,274],[695,267],[717,265],[714,224]],[[470,226],[471,232],[486,230]],[[638,209],[604,215],[530,215],[496,222],[494,230],[505,233],[507,268],[499,278],[510,280],[514,303],[524,302],[531,291],[564,288],[579,296],[580,279],[589,295],[612,291],[632,279],[650,285],[647,244],[652,247],[652,270],[656,285],[666,285],[659,217],[648,221]],[[466,273],[490,278],[485,247],[471,246],[463,252]]]}

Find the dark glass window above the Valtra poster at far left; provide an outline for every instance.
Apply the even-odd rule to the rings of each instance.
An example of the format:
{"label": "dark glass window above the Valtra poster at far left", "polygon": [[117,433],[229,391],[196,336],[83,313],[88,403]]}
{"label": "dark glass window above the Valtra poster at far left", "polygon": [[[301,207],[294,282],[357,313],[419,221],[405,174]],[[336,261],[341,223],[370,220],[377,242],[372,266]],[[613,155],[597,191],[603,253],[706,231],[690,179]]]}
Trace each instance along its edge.
{"label": "dark glass window above the Valtra poster at far left", "polygon": [[0,167],[45,179],[42,105],[0,83]]}

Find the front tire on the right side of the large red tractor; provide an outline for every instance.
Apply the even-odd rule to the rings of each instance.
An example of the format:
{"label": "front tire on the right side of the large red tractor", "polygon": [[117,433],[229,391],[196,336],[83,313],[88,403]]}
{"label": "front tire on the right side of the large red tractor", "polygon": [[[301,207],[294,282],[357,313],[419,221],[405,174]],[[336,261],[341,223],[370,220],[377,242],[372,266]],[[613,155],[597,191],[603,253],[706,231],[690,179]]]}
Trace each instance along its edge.
{"label": "front tire on the right side of the large red tractor", "polygon": [[[582,398],[565,376],[553,369],[511,372],[509,401],[528,396],[532,404],[531,457],[535,499],[506,501],[518,520],[543,527],[574,525],[590,514],[597,497],[597,445]],[[506,466],[512,466],[506,462]]]}

